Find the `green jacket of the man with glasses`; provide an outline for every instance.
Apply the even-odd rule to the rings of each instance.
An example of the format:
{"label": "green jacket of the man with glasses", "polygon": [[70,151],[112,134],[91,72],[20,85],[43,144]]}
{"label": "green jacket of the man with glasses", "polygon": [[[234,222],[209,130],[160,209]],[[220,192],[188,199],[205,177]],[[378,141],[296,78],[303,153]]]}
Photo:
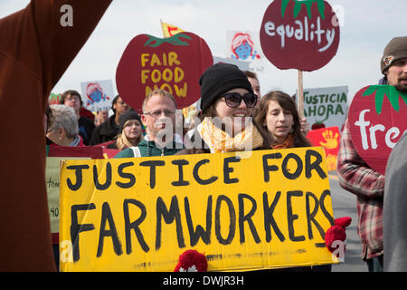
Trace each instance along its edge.
{"label": "green jacket of the man with glasses", "polygon": [[[160,149],[156,147],[155,141],[150,140],[141,140],[138,143],[137,147],[138,150],[140,150],[141,157],[174,155],[179,150],[185,149],[184,144],[175,143],[175,141],[173,141],[173,146],[171,149],[167,148]],[[131,148],[121,150],[115,156],[115,158],[129,158],[129,157],[135,157],[134,152]]]}

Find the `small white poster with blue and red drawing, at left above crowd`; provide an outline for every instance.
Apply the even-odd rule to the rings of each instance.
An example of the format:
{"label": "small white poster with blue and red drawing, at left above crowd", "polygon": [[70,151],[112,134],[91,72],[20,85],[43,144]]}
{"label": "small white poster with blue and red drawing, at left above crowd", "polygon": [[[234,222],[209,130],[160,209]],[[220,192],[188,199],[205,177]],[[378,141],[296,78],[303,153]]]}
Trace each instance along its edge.
{"label": "small white poster with blue and red drawing, at left above crowd", "polygon": [[115,98],[111,80],[80,82],[80,87],[83,107],[95,112],[110,110],[111,103]]}

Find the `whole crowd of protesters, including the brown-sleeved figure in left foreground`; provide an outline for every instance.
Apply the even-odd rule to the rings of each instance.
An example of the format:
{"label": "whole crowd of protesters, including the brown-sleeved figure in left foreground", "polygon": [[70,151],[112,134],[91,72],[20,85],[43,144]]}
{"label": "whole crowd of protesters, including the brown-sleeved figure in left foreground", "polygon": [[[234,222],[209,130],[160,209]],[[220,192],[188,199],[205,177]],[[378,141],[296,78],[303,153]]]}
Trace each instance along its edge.
{"label": "whole crowd of protesters, including the brown-sleeved figure in left foreground", "polygon": [[[106,146],[119,150],[115,158],[309,146],[305,138],[309,124],[300,119],[293,99],[277,91],[261,96],[254,73],[243,73],[227,63],[213,64],[202,74],[198,121],[188,128],[177,114],[174,96],[162,90],[147,95],[140,114],[118,95],[112,102],[113,115],[109,117],[105,111],[95,116],[84,110],[80,93],[73,90],[62,94],[61,104],[47,106],[52,87],[110,2],[71,0],[75,14],[87,16],[78,17],[70,30],[59,29],[60,7],[47,1],[32,1],[0,21],[0,105],[11,108],[15,100],[10,96],[29,96],[19,103],[19,111],[4,113],[5,119],[20,118],[31,125],[2,125],[2,132],[14,142],[2,145],[7,169],[2,170],[0,182],[9,187],[8,193],[2,189],[0,203],[0,270],[56,269],[44,185],[45,144]],[[380,63],[380,83],[407,92],[407,36],[393,38]],[[30,141],[31,150],[26,150],[24,140]],[[388,174],[383,176],[360,158],[345,121],[337,174],[340,185],[357,197],[358,234],[369,271],[407,270],[402,219],[407,206],[402,193],[407,185],[401,175],[405,171],[399,170],[405,167],[404,144],[405,136],[393,150]],[[22,164],[26,164],[25,182],[19,179]],[[383,208],[388,209],[383,212]],[[14,213],[20,217],[14,218]]]}

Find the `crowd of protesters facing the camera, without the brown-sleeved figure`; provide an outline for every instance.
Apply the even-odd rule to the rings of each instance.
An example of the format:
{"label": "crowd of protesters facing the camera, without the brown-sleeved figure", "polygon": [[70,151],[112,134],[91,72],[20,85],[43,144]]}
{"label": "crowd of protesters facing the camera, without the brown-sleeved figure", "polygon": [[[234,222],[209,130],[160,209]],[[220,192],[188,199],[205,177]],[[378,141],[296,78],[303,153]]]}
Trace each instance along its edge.
{"label": "crowd of protesters facing the camera, without the brown-sleeved figure", "polygon": [[[394,38],[383,52],[382,84],[406,91],[406,37]],[[400,53],[402,52],[402,53]],[[385,56],[393,62],[385,64]],[[402,77],[401,77],[402,76]],[[115,158],[215,153],[237,150],[266,150],[309,147],[306,138],[309,124],[300,119],[294,99],[285,92],[273,91],[260,96],[256,73],[241,72],[232,64],[216,63],[201,76],[201,102],[197,121],[185,128],[184,118],[176,118],[177,104],[169,92],[150,92],[142,106],[141,116],[119,96],[112,103],[114,114],[93,131],[86,131],[78,117],[80,95],[62,94],[62,105],[53,105],[52,125],[47,138],[65,146],[107,146],[120,150]],[[78,100],[72,100],[79,97]],[[65,108],[64,108],[65,107]],[[73,110],[68,110],[71,107]],[[74,128],[74,112],[77,125]],[[179,111],[182,114],[182,111]],[[63,121],[62,121],[63,120]],[[176,131],[177,122],[182,131]],[[146,126],[146,134],[142,127]],[[71,128],[72,127],[72,128]],[[179,124],[178,124],[179,127]],[[90,126],[88,126],[90,128]],[[186,134],[185,134],[186,132]],[[79,139],[79,140],[78,140]],[[48,140],[48,143],[50,143]],[[355,150],[346,120],[338,155],[337,173],[340,185],[357,196],[358,234],[363,244],[363,259],[369,271],[383,271],[383,191],[384,176],[362,160]]]}

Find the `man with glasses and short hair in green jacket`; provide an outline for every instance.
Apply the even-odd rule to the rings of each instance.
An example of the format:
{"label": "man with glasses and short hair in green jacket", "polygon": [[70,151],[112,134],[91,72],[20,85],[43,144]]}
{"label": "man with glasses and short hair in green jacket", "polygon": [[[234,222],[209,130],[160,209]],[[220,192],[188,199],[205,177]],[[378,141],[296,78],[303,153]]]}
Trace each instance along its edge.
{"label": "man with glasses and short hair in green jacket", "polygon": [[172,94],[163,90],[150,92],[143,102],[141,115],[147,135],[137,147],[122,150],[115,158],[166,156],[182,150],[182,141],[175,141],[175,112]]}

